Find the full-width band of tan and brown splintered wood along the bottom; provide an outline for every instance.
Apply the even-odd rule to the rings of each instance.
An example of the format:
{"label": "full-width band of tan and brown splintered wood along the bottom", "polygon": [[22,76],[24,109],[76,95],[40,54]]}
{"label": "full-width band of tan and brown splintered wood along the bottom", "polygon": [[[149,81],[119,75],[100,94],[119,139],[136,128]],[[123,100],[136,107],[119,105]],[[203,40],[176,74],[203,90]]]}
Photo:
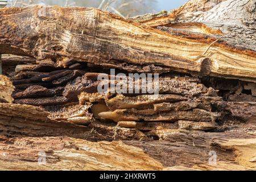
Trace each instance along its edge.
{"label": "full-width band of tan and brown splintered wood along the bottom", "polygon": [[[221,137],[224,137],[223,140]],[[0,169],[255,170],[255,139],[240,133],[172,135],[165,141],[89,142],[68,137],[0,137]],[[214,139],[213,139],[214,138]],[[209,152],[217,163],[209,164]],[[39,153],[41,152],[41,153]],[[42,152],[46,164],[39,164]]]}

